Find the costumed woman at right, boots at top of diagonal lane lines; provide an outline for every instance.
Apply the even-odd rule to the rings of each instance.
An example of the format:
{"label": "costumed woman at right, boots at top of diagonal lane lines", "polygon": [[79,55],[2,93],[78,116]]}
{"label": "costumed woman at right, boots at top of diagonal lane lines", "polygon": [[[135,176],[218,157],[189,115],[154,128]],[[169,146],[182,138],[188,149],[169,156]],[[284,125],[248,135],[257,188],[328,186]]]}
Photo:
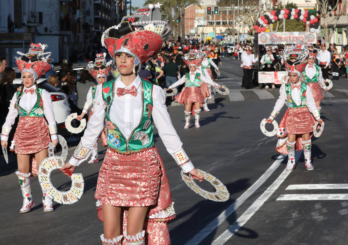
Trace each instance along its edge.
{"label": "costumed woman at right, boots at top of diagonal lane lines", "polygon": [[[298,49],[294,50],[293,53],[290,52],[288,57],[293,57],[291,54],[296,56]],[[279,99],[276,101],[271,115],[266,119],[268,123],[271,123],[279,114],[285,100],[287,101],[288,109],[279,124],[277,132],[279,139],[276,147],[279,153],[288,155],[286,170],[295,168],[295,149],[299,151],[302,148],[305,168],[307,170],[314,169],[311,164],[311,136],[315,120],[319,123],[323,122],[320,119],[309,85],[301,82],[302,79],[300,79],[301,73],[308,62],[308,52],[306,53],[306,50],[301,51],[303,54],[301,59],[290,58],[284,60],[289,82],[282,86]]]}

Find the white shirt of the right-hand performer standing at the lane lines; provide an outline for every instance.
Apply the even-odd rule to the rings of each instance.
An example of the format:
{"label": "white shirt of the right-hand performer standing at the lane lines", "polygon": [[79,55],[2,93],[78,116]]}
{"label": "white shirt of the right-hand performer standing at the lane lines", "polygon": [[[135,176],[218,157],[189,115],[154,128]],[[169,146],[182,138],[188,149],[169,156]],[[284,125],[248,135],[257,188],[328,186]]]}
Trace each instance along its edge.
{"label": "white shirt of the right-hand performer standing at the lane lines", "polygon": [[[296,85],[301,84],[299,81]],[[301,105],[301,88],[293,88],[291,89],[291,98],[294,101],[296,105]],[[285,91],[285,86],[282,86],[282,90],[280,91],[280,96],[276,101],[276,104],[274,106],[274,110],[279,113],[280,109],[282,109],[286,98],[286,91]],[[317,109],[317,106],[315,105],[315,101],[312,95],[312,91],[310,90],[310,87],[307,85],[307,90],[306,90],[306,105],[309,109],[310,112],[313,112],[315,109]]]}

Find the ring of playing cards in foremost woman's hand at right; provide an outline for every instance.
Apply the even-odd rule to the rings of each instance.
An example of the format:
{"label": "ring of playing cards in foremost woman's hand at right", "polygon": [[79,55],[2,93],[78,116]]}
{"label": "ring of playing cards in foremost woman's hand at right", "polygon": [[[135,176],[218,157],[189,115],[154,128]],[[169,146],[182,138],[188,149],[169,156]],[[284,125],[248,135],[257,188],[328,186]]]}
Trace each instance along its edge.
{"label": "ring of playing cards in foremost woman's hand at right", "polygon": [[223,185],[223,183],[216,179],[213,175],[210,173],[204,172],[200,169],[197,169],[197,172],[200,176],[202,176],[205,180],[207,180],[209,183],[211,183],[215,187],[215,192],[209,192],[206,190],[203,190],[200,188],[196,182],[193,180],[191,174],[184,173],[184,171],[181,170],[181,178],[186,183],[186,185],[195,193],[203,196],[205,199],[209,199],[215,202],[226,202],[229,197],[230,193],[228,192],[226,186]]}

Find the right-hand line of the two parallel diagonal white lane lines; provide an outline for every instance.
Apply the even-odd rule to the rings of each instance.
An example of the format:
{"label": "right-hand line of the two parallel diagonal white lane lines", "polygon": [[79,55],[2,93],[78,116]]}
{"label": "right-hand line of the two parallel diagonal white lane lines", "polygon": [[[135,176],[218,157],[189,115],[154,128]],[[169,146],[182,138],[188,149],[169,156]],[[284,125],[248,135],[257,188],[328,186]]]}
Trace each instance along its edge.
{"label": "right-hand line of the two parallel diagonal white lane lines", "polygon": [[[295,153],[295,159],[300,158],[302,150]],[[296,161],[296,163],[297,163]],[[260,209],[264,202],[274,193],[276,189],[280,186],[281,183],[286,179],[286,177],[291,173],[291,171],[284,171],[279,175],[279,177],[270,185],[267,190],[262,193],[262,195],[256,199],[256,201],[227,229],[225,230],[211,245],[221,245],[227,242],[240,227],[242,227],[256,211]]]}

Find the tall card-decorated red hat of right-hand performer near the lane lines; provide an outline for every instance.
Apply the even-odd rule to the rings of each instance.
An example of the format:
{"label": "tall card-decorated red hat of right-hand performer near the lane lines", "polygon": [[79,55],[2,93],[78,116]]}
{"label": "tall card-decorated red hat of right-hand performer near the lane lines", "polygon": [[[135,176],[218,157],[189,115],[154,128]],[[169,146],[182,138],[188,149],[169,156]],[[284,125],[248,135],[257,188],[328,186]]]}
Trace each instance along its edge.
{"label": "tall card-decorated red hat of right-hand performer near the lane lines", "polygon": [[295,72],[300,76],[308,63],[309,53],[309,49],[303,44],[284,49],[283,59],[286,71]]}

